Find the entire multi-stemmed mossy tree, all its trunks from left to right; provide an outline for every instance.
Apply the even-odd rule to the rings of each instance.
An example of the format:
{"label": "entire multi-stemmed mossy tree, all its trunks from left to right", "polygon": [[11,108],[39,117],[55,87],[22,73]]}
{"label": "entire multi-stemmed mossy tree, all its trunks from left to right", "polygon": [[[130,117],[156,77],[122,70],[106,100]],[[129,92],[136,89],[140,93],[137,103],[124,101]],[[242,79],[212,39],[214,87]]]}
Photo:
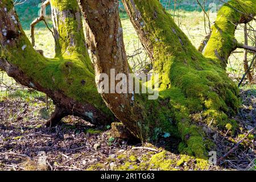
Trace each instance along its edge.
{"label": "entire multi-stemmed mossy tree, all its trunks from left to right", "polygon": [[[136,93],[132,87],[130,93],[100,92],[103,100],[135,137],[153,142],[170,133],[171,137],[183,140],[179,144],[180,152],[205,158],[207,151],[212,150],[212,143],[202,124],[220,130],[236,130],[237,123],[229,118],[240,106],[239,90],[226,74],[225,65],[237,46],[234,24],[251,20],[256,12],[255,0],[246,3],[233,0],[230,1],[232,7],[222,7],[205,56],[192,46],[158,0],[123,0],[123,3],[153,61],[154,73],[159,74],[159,98],[148,100],[148,93]],[[97,88],[102,90],[101,75],[109,76],[109,85],[115,88],[119,81],[113,82],[113,76],[123,73],[129,77],[131,73],[123,44],[118,0],[79,0],[79,5],[85,17],[97,87],[76,0],[51,1],[55,59],[47,59],[32,48],[13,4],[7,0],[0,4],[0,30],[5,32],[0,35],[0,68],[21,84],[47,93],[53,99],[56,112],[50,125],[67,114],[92,123],[110,121],[111,114],[97,94]],[[250,15],[245,16],[244,10]],[[126,81],[123,86],[131,85]]]}

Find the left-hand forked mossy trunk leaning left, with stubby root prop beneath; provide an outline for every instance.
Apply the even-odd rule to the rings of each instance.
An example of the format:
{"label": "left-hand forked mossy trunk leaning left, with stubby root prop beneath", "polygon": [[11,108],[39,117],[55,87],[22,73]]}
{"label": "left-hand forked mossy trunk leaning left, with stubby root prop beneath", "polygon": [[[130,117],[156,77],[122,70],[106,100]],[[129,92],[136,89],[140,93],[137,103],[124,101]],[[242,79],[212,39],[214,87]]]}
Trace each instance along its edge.
{"label": "left-hand forked mossy trunk leaning left, with stubby root prop beneath", "polygon": [[76,115],[94,125],[113,119],[94,81],[76,0],[51,0],[56,56],[34,50],[22,30],[13,1],[0,3],[0,69],[22,85],[46,93],[56,105],[48,125]]}

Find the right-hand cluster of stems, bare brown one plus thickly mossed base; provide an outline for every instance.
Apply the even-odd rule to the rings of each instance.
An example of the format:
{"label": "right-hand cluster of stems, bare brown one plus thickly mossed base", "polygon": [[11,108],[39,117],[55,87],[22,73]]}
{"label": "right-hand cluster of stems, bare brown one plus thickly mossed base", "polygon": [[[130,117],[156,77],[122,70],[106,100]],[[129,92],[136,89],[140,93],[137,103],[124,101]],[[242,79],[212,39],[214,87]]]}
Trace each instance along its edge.
{"label": "right-hand cluster of stems, bare brown one plus thickly mossed base", "polygon": [[[110,69],[115,69],[115,75],[130,73],[118,1],[79,2],[88,27],[96,77],[101,73],[110,77]],[[230,1],[232,6],[222,7],[205,56],[192,46],[158,0],[123,0],[123,3],[153,61],[154,72],[160,75],[159,99],[149,101],[147,94],[102,93],[102,97],[137,137],[152,140],[159,134],[170,133],[183,140],[179,144],[180,152],[204,158],[212,142],[199,125],[216,126],[230,133],[237,127],[229,118],[240,106],[239,90],[224,67],[236,48],[236,24],[243,19],[251,20],[245,14],[254,16],[255,1]],[[96,84],[100,82],[96,80]]]}

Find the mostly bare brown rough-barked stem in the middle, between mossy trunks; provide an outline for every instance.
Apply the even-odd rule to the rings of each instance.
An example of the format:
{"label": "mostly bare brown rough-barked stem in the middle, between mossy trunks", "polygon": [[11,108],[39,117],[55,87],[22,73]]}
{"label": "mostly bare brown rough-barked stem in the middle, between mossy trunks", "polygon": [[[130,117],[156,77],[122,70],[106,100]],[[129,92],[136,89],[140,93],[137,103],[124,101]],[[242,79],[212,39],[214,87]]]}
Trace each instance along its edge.
{"label": "mostly bare brown rough-barked stem in the middle, between mossy trunks", "polygon": [[[101,73],[106,73],[109,78],[112,76],[110,69],[115,69],[114,77],[118,73],[128,75],[130,69],[123,44],[118,1],[90,0],[79,1],[79,3],[87,24],[88,45],[94,60],[96,84],[100,84]],[[143,106],[132,100],[133,94],[103,93],[102,97],[115,116],[139,137],[141,130],[138,129],[138,122],[146,117],[146,113]]]}

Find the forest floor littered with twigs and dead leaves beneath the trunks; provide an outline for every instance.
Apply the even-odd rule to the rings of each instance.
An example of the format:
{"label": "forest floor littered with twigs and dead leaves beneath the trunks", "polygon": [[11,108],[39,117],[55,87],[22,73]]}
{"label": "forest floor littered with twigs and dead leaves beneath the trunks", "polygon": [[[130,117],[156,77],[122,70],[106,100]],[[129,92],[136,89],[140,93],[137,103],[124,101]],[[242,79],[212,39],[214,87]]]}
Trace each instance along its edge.
{"label": "forest floor littered with twigs and dead leaves beneath the trunks", "polygon": [[44,123],[53,104],[47,110],[42,94],[27,92],[30,94],[13,94],[0,101],[0,170],[255,170],[254,135],[243,139],[255,127],[255,90],[241,92],[243,104],[234,118],[240,129],[234,137],[214,136],[218,156],[243,139],[218,166],[180,155],[178,139],[170,139],[171,146],[160,138],[155,144],[116,139],[110,126],[97,129],[72,116],[47,128]]}

